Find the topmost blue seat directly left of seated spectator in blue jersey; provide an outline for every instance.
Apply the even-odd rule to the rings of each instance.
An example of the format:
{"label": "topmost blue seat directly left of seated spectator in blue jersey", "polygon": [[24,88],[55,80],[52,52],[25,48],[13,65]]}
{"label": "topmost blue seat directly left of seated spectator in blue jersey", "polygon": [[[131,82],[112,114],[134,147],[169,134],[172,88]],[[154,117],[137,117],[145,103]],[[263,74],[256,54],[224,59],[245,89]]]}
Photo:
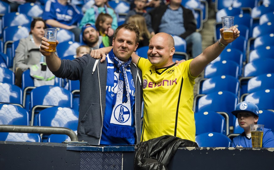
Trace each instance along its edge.
{"label": "topmost blue seat directly left of seated spectator in blue jersey", "polygon": [[42,18],[44,10],[37,3],[24,3],[18,6],[17,11],[32,18]]}

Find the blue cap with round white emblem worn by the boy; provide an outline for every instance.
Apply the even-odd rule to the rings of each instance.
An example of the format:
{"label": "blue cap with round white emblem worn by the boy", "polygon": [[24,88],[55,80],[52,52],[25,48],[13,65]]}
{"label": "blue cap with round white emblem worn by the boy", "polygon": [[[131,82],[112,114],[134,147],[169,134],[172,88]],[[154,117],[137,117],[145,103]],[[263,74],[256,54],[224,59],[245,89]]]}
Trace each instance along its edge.
{"label": "blue cap with round white emblem worn by the boy", "polygon": [[259,117],[259,108],[257,105],[255,105],[254,103],[251,103],[249,101],[243,101],[241,103],[239,103],[236,106],[236,109],[234,111],[232,111],[231,113],[237,117],[238,113],[241,112],[248,112],[248,113],[252,113],[255,116]]}

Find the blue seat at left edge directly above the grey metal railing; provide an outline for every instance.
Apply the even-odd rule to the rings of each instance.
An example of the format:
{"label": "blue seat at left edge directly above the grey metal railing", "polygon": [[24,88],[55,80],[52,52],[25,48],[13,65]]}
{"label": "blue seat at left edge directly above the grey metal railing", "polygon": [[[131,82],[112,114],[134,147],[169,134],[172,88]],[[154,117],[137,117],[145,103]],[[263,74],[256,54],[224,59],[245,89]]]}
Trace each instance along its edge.
{"label": "blue seat at left edge directly above the grey metal railing", "polygon": [[0,104],[0,125],[29,125],[29,112],[12,104]]}

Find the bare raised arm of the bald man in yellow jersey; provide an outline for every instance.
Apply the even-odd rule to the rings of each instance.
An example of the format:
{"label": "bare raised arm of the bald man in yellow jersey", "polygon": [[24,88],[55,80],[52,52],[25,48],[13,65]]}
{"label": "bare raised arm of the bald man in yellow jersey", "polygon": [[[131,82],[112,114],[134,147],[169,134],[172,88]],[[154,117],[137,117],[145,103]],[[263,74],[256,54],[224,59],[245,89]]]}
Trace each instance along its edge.
{"label": "bare raised arm of the bald man in yellow jersey", "polygon": [[[223,51],[223,45],[228,45],[228,43],[233,42],[237,37],[240,36],[240,31],[238,28],[233,26],[233,39],[225,40],[223,38],[223,28],[220,29],[221,39],[214,43],[213,45],[207,47],[202,54],[194,58],[190,63],[190,70],[193,76],[198,76],[204,70],[204,68],[211,61],[216,59]],[[193,50],[193,49],[192,49]],[[194,49],[195,50],[195,49]]]}

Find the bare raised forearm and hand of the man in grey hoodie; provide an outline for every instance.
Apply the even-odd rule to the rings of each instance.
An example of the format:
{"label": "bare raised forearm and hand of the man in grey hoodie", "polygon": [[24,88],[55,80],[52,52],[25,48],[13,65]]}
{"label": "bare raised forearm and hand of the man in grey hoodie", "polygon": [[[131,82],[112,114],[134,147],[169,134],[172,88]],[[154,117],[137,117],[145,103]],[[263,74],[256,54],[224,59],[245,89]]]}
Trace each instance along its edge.
{"label": "bare raised forearm and hand of the man in grey hoodie", "polygon": [[[42,42],[40,46],[40,53],[46,57],[46,64],[50,71],[57,71],[61,66],[61,59],[55,54],[55,52],[47,52],[45,49],[49,49],[49,43],[47,39],[42,37]],[[58,41],[56,41],[56,46]]]}

